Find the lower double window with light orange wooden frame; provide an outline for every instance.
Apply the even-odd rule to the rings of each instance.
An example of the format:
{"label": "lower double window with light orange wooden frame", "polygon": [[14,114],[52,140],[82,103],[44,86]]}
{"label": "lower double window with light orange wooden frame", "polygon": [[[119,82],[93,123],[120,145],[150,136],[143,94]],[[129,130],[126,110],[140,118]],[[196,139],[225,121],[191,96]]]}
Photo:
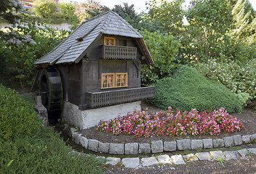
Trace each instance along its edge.
{"label": "lower double window with light orange wooden frame", "polygon": [[102,88],[120,88],[128,86],[128,73],[102,73]]}

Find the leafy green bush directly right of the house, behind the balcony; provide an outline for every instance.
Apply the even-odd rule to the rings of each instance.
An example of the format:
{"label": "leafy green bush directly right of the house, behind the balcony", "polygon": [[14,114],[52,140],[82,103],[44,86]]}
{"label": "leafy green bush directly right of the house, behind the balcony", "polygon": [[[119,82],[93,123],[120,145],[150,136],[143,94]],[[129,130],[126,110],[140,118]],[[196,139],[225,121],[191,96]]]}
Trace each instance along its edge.
{"label": "leafy green bush directly right of the house, behind the balcony", "polygon": [[159,78],[169,75],[173,68],[178,65],[175,55],[178,52],[180,43],[170,33],[160,33],[156,31],[150,33],[147,30],[141,31],[144,41],[154,60],[154,65],[141,66],[141,81],[152,83]]}

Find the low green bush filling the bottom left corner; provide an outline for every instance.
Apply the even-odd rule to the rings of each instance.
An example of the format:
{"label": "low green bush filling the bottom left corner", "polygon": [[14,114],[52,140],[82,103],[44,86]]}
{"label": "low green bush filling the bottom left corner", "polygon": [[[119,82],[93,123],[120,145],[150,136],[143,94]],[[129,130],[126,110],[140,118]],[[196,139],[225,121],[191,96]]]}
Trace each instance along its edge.
{"label": "low green bush filling the bottom left corner", "polygon": [[33,104],[4,86],[0,120],[0,173],[104,173],[94,155],[73,152],[52,127],[42,127]]}

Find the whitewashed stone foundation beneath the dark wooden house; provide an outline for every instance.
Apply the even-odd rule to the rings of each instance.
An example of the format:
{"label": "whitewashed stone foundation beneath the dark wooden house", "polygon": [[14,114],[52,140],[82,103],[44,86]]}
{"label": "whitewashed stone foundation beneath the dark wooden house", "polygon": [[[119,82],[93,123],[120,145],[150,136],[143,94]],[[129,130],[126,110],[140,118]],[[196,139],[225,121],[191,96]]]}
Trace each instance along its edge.
{"label": "whitewashed stone foundation beneath the dark wooden house", "polygon": [[61,117],[70,125],[77,126],[80,130],[83,130],[98,124],[99,120],[110,120],[118,117],[119,114],[124,116],[127,115],[127,112],[131,112],[134,109],[141,110],[141,101],[86,110],[80,110],[75,104],[65,101]]}

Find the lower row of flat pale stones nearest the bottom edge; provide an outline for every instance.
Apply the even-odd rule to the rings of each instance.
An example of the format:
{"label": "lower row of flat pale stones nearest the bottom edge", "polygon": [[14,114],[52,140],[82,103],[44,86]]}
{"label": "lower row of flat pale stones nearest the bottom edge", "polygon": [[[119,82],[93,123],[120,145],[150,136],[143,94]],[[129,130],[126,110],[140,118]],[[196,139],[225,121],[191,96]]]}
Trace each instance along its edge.
{"label": "lower row of flat pale stones nearest the bottom edge", "polygon": [[[82,153],[70,152],[80,156]],[[105,165],[118,165],[127,168],[139,168],[139,167],[151,167],[154,165],[186,165],[189,162],[195,161],[228,161],[231,159],[245,159],[247,156],[255,155],[256,148],[240,149],[237,151],[210,151],[210,152],[199,152],[196,154],[176,154],[169,156],[168,154],[162,154],[157,157],[96,157],[96,160],[104,162]],[[84,154],[90,155],[90,154]]]}

